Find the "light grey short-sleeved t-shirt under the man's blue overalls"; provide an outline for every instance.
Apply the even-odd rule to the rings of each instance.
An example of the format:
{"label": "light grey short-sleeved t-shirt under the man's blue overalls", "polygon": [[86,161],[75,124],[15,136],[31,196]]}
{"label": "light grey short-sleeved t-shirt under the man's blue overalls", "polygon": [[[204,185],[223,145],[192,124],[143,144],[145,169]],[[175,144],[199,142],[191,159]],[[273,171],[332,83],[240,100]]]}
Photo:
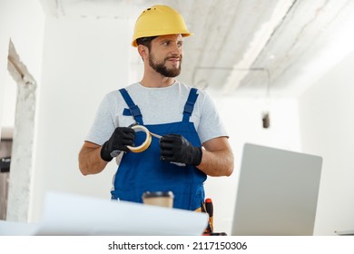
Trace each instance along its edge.
{"label": "light grey short-sleeved t-shirt under the man's blue overalls", "polygon": [[[191,87],[177,81],[169,87],[149,88],[141,83],[133,83],[125,89],[139,106],[144,124],[181,122],[184,104],[191,91]],[[198,94],[190,121],[193,122],[201,142],[227,136],[211,97],[202,90],[198,90]],[[116,127],[129,126],[135,122],[133,116],[123,115],[124,108],[128,106],[118,90],[107,93],[85,140],[102,145],[111,137]]]}

